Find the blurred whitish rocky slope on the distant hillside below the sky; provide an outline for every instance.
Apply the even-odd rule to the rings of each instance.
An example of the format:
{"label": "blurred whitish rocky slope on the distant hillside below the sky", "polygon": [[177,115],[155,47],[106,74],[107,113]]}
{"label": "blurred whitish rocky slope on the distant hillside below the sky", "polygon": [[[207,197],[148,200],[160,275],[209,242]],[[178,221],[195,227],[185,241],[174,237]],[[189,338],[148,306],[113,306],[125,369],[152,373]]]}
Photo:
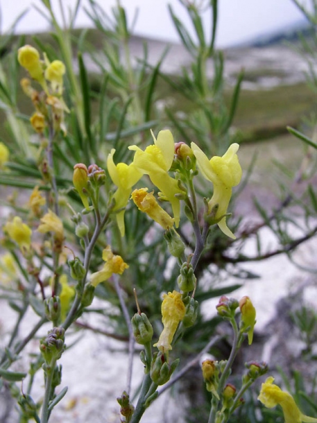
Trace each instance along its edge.
{"label": "blurred whitish rocky slope on the distant hillside below the sky", "polygon": [[[139,60],[144,60],[143,43],[148,45],[147,62],[155,66],[167,49],[162,62],[162,71],[166,74],[178,75],[182,67],[189,68],[191,56],[181,44],[166,43],[158,40],[142,40],[132,37],[130,49],[133,65]],[[259,89],[275,87],[277,85],[291,85],[305,80],[305,72],[309,70],[308,64],[302,59],[295,46],[289,44],[276,44],[272,46],[252,47],[241,46],[223,50],[225,59],[225,78],[231,85],[237,80],[237,75],[244,69],[243,88]],[[91,71],[98,72],[98,67],[85,56],[86,64]],[[98,60],[103,61],[102,53],[98,53]],[[212,62],[210,61],[208,76],[213,76]]]}

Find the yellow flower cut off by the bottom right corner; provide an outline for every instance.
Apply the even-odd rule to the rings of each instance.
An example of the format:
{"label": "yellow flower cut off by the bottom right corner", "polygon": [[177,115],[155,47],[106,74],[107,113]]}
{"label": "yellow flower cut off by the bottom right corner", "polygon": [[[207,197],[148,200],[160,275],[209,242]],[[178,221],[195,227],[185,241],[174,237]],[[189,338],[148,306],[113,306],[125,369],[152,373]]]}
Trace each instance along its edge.
{"label": "yellow flower cut off by the bottom right corner", "polygon": [[257,399],[259,399],[264,406],[273,408],[279,404],[284,413],[285,423],[317,422],[316,418],[302,414],[289,392],[285,392],[279,386],[274,385],[273,381],[273,377],[268,377],[266,381],[262,383],[261,392]]}

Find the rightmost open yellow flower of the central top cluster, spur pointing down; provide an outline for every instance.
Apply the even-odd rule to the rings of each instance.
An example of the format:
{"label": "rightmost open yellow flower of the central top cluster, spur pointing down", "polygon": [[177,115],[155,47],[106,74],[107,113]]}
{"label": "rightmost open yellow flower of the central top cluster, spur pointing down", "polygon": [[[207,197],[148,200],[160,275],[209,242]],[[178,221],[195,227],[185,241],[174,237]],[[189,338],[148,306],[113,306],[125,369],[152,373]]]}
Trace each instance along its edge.
{"label": "rightmost open yellow flower of the central top cluster, spur pointing down", "polygon": [[210,160],[194,142],[191,143],[191,148],[194,151],[200,172],[204,178],[214,184],[214,194],[208,202],[208,213],[212,213],[214,207],[218,207],[214,220],[217,221],[218,226],[225,235],[235,239],[234,234],[227,226],[224,215],[227,213],[232,187],[239,184],[242,176],[237,156],[239,144],[231,144],[222,157],[214,156]]}

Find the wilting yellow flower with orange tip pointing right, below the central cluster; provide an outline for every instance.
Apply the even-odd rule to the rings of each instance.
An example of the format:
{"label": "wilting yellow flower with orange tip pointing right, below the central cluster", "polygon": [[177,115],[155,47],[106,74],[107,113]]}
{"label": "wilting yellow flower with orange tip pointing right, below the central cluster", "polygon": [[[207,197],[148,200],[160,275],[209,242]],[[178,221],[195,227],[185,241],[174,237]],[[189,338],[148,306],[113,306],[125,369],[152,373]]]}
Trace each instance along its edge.
{"label": "wilting yellow flower with orange tip pointing right, below the central cluster", "polygon": [[129,267],[128,264],[123,261],[121,256],[113,254],[110,245],[103,250],[103,260],[105,261],[103,268],[98,272],[92,273],[90,276],[90,282],[93,286],[97,286],[101,282],[109,279],[112,276],[112,273],[122,275],[124,270]]}

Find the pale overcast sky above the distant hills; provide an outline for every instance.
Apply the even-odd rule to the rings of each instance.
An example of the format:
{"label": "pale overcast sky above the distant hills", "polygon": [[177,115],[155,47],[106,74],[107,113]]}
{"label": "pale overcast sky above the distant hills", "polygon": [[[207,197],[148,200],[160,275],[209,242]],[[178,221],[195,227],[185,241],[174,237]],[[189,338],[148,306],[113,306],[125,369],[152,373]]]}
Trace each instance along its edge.
{"label": "pale overcast sky above the distant hills", "polygon": [[[74,8],[76,0],[51,0],[53,8],[58,13],[58,5],[62,2],[67,8]],[[110,13],[115,0],[96,0],[104,10]],[[196,0],[197,3],[206,3],[207,0]],[[304,0],[302,0],[304,1]],[[307,0],[305,0],[307,3]],[[167,4],[171,4],[174,12],[182,19],[187,27],[189,19],[185,8],[179,0],[121,0],[126,8],[128,22],[132,23],[136,8],[139,8],[135,35],[157,38],[170,42],[178,42],[178,34],[173,28]],[[17,32],[46,31],[48,24],[34,6],[44,10],[40,0],[0,0],[0,28],[7,31],[17,16],[28,10],[17,25]],[[81,0],[82,6],[88,6],[88,0]],[[298,23],[302,14],[292,0],[219,0],[219,24],[216,45],[219,47],[234,46],[248,42],[254,37],[274,33],[280,28]],[[210,28],[210,16],[205,15],[205,28]],[[90,20],[83,7],[78,13],[76,26],[89,26]]]}

